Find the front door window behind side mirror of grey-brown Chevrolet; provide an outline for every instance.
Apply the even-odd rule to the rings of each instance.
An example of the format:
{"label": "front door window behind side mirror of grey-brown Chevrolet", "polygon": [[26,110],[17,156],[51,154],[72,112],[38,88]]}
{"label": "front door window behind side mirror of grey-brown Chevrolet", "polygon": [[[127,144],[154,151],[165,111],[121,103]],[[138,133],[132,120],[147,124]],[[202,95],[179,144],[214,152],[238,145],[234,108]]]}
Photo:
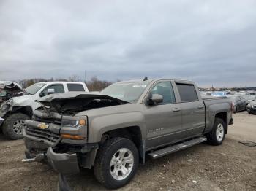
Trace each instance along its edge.
{"label": "front door window behind side mirror of grey-brown Chevrolet", "polygon": [[151,90],[151,94],[159,94],[164,98],[161,104],[175,103],[175,95],[173,93],[173,86],[170,82],[160,82]]}

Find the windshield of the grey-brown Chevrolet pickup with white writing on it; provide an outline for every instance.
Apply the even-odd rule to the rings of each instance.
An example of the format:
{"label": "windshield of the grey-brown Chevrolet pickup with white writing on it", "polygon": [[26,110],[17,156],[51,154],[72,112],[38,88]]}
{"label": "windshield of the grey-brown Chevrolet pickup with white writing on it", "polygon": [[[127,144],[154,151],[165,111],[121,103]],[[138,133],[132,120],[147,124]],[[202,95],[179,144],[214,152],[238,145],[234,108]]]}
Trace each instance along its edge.
{"label": "windshield of the grey-brown Chevrolet pickup with white writing on it", "polygon": [[148,82],[116,83],[102,90],[102,94],[135,103],[147,87]]}

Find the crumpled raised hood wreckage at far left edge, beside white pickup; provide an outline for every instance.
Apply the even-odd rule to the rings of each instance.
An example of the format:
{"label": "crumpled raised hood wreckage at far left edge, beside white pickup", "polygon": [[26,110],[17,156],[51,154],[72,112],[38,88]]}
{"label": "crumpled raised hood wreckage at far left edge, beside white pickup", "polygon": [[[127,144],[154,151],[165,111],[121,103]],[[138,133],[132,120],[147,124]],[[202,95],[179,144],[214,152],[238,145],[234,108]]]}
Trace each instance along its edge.
{"label": "crumpled raised hood wreckage at far left edge, beside white pickup", "polygon": [[0,104],[12,97],[26,95],[26,92],[15,82],[0,81]]}

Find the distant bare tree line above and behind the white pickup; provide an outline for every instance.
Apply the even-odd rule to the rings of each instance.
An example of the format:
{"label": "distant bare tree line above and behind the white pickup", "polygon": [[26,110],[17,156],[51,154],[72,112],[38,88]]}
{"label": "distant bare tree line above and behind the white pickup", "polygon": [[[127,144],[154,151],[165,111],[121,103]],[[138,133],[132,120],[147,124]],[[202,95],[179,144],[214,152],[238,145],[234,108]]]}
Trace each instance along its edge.
{"label": "distant bare tree line above and behind the white pickup", "polygon": [[[83,80],[80,79],[80,77],[76,75],[72,75],[65,78],[50,78],[50,79],[44,79],[44,78],[34,78],[34,79],[22,79],[18,80],[18,84],[20,84],[23,88],[29,87],[30,85],[34,85],[38,82],[83,82]],[[118,80],[117,80],[118,81]],[[113,82],[106,81],[106,80],[100,80],[97,77],[92,77],[89,81],[86,81],[86,85],[89,89],[89,91],[100,91],[107,87],[108,85],[111,85]]]}

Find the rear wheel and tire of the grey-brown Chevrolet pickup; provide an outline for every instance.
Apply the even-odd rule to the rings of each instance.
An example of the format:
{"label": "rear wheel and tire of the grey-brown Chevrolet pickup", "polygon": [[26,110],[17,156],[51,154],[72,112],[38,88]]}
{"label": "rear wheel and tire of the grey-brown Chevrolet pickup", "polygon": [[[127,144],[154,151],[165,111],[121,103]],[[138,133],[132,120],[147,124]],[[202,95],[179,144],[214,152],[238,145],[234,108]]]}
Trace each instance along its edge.
{"label": "rear wheel and tire of the grey-brown Chevrolet pickup", "polygon": [[208,144],[222,144],[223,140],[225,139],[225,128],[225,122],[220,118],[215,118],[214,127],[212,128],[211,132],[206,135]]}

